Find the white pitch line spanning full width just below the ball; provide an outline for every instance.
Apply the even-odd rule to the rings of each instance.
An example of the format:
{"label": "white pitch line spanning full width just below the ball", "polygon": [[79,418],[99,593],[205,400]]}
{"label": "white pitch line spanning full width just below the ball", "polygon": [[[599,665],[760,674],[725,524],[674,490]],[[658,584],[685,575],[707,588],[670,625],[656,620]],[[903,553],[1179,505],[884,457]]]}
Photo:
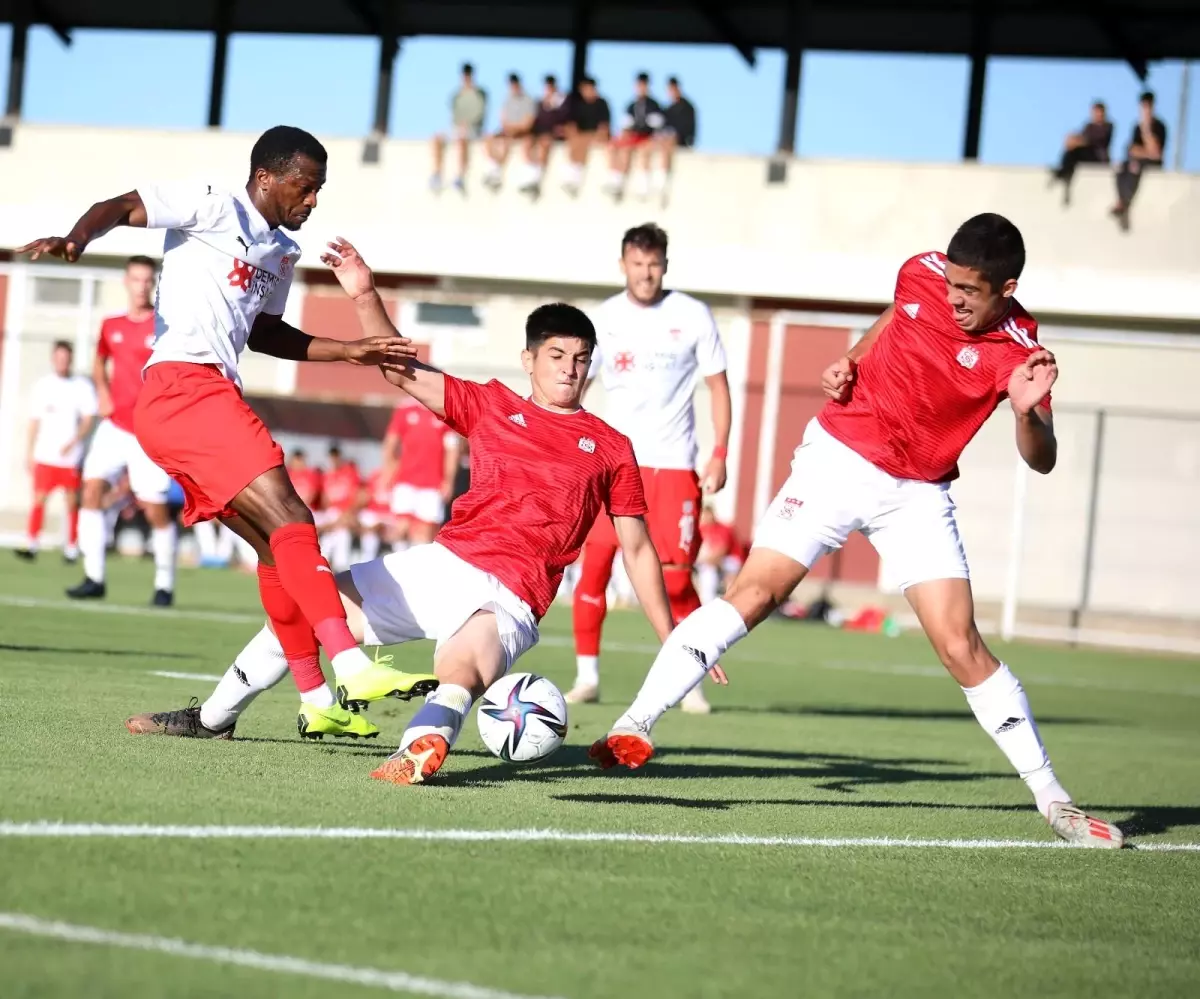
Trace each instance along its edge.
{"label": "white pitch line spanning full width just below the ball", "polygon": [[[0,821],[0,838],[97,839],[424,839],[455,843],[635,843],[683,847],[880,847],[941,850],[1070,849],[1058,839],[900,839],[895,837],[676,836],[558,828],[336,828],[323,826],[149,826]],[[1200,843],[1146,843],[1139,850],[1200,853]]]}

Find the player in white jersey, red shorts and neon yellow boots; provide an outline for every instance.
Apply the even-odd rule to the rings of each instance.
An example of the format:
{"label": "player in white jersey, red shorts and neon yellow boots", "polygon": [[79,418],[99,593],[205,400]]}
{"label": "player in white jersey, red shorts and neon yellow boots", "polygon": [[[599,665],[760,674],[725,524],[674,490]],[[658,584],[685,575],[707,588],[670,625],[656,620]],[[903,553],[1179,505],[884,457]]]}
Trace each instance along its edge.
{"label": "player in white jersey, red shorts and neon yellow boots", "polygon": [[[250,178],[240,189],[140,187],[92,205],[66,237],[35,240],[18,252],[73,262],[115,226],[167,231],[155,347],[133,411],[138,444],[182,486],[185,522],[220,518],[253,545],[263,606],[305,711],[314,725],[338,734],[356,725],[356,716],[334,702],[320,646],[338,683],[364,695],[382,687],[410,695],[433,681],[373,664],[358,647],[312,514],[288,479],[283,451],[241,394],[238,360],[247,346],[288,360],[365,365],[415,354],[395,330],[347,343],[283,322],[300,256],[284,231],[299,229],[316,208],[325,160],[311,134],[277,126],[254,143]],[[170,724],[198,722],[192,712]]]}

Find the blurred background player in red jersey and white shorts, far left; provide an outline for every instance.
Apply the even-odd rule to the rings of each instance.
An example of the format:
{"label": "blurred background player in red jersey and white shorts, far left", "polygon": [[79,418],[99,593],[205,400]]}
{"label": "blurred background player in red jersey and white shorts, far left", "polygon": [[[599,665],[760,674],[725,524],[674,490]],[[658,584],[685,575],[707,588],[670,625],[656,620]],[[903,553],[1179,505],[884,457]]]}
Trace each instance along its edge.
{"label": "blurred background player in red jersey and white shorts, far left", "polygon": [[125,293],[130,307],[110,316],[100,328],[91,377],[100,399],[96,436],[83,463],[83,509],[79,513],[79,548],[83,582],[67,591],[72,599],[103,597],[108,534],[104,492],[122,473],[150,525],[154,552],[155,606],[169,608],[175,592],[175,549],[179,532],[167,509],[170,478],[155,465],[133,436],[133,407],[142,390],[142,369],[154,353],[155,262],[131,257],[125,264]]}

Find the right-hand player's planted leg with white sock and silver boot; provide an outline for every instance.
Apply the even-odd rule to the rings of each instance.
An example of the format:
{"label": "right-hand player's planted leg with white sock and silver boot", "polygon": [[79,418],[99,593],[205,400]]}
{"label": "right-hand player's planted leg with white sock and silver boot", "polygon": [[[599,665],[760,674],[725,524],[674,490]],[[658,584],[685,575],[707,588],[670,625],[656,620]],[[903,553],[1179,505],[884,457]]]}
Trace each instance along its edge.
{"label": "right-hand player's planted leg with white sock and silver boot", "polygon": [[905,597],[971,711],[1021,776],[1054,831],[1076,845],[1120,848],[1121,830],[1084,814],[1058,783],[1021,682],[991,654],[976,627],[970,581],[919,582]]}

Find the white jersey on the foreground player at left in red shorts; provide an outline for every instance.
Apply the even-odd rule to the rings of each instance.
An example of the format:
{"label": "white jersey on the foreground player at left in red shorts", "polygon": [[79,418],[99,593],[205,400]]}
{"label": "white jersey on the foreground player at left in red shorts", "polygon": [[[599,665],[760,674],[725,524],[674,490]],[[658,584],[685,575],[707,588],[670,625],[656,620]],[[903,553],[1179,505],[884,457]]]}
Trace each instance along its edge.
{"label": "white jersey on the foreground player at left in red shorts", "polygon": [[146,366],[215,364],[240,387],[238,358],[254,318],[283,315],[300,247],[266,225],[244,190],[172,184],[138,195],[148,228],[167,229]]}

